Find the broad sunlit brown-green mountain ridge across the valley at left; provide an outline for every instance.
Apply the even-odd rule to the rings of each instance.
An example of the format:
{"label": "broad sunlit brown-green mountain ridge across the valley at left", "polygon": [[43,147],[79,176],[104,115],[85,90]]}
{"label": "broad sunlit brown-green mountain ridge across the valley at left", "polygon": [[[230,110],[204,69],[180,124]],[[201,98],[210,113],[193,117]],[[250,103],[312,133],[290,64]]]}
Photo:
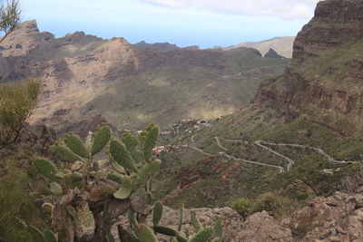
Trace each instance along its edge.
{"label": "broad sunlit brown-green mountain ridge across the valley at left", "polygon": [[21,24],[6,41],[0,80],[42,81],[44,94],[31,121],[58,133],[99,114],[97,120],[117,129],[217,118],[250,103],[260,81],[279,75],[289,62],[262,58],[245,47],[160,51],[83,32],[54,38],[39,33],[35,21]]}

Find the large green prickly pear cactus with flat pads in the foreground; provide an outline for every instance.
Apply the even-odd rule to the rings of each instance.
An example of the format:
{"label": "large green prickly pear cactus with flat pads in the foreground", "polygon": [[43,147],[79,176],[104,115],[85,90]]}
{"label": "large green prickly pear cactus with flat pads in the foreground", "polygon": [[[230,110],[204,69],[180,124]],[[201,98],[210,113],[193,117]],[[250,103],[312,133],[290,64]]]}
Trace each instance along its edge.
{"label": "large green prickly pear cactus with flat pads in the foreground", "polygon": [[[147,216],[145,211],[152,209],[151,179],[161,166],[152,155],[158,136],[159,127],[152,124],[139,137],[125,132],[122,139],[117,139],[103,124],[85,142],[74,134],[55,142],[51,150],[63,161],[62,166],[34,159],[34,167],[51,181],[54,204],[47,203],[46,208],[52,210],[53,225],[61,241],[113,241],[113,221],[127,211],[134,230],[126,233],[119,229],[123,236],[130,241],[157,241],[142,220]],[[102,150],[109,159],[94,160]],[[139,189],[144,189],[145,194],[141,205],[132,201],[132,194]],[[161,218],[162,205],[155,208],[156,222]]]}

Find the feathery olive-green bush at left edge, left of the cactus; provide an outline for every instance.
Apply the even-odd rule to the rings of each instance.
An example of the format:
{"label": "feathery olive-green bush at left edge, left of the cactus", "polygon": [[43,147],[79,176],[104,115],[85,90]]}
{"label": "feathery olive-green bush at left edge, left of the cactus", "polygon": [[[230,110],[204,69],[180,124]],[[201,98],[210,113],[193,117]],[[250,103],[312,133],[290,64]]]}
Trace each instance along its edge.
{"label": "feathery olive-green bush at left edge, left of the cactus", "polygon": [[0,84],[0,148],[17,140],[34,110],[39,91],[40,84],[34,79]]}

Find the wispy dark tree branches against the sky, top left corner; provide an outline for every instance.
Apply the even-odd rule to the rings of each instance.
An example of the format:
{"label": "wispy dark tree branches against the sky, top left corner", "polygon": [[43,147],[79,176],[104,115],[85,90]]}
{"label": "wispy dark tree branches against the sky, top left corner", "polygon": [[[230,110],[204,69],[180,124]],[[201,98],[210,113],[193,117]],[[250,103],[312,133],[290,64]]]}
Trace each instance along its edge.
{"label": "wispy dark tree branches against the sky, top left corner", "polygon": [[[1,1],[1,0],[0,0]],[[22,9],[19,0],[7,0],[0,5],[0,32],[5,35],[0,39],[0,44],[5,40],[15,27],[20,23]]]}

